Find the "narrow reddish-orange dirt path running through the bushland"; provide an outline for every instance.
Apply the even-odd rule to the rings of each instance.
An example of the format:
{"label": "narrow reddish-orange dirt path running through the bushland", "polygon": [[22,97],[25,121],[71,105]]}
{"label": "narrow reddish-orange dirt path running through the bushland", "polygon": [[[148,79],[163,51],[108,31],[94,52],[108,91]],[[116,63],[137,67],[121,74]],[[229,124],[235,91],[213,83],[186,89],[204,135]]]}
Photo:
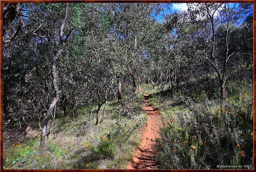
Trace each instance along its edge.
{"label": "narrow reddish-orange dirt path running through the bushland", "polygon": [[[142,88],[140,91],[143,92]],[[154,144],[158,137],[159,125],[162,124],[159,110],[148,102],[149,95],[144,93],[142,101],[142,109],[148,115],[147,125],[142,131],[142,140],[140,146],[136,148],[133,161],[131,161],[128,169],[159,169],[158,163],[154,160]]]}

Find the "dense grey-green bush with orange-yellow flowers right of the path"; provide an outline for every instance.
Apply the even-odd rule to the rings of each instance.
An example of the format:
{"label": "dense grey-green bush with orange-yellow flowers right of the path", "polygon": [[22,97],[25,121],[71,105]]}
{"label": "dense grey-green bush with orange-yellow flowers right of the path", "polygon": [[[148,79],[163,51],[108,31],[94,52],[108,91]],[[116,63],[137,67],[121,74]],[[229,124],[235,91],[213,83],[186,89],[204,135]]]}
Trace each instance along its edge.
{"label": "dense grey-green bush with orange-yellow flowers right of the path", "polygon": [[[252,95],[236,100],[188,98],[189,112],[166,121],[156,145],[157,158],[168,169],[216,169],[217,165],[252,165]],[[196,101],[195,101],[196,100]],[[243,166],[242,166],[243,168]]]}

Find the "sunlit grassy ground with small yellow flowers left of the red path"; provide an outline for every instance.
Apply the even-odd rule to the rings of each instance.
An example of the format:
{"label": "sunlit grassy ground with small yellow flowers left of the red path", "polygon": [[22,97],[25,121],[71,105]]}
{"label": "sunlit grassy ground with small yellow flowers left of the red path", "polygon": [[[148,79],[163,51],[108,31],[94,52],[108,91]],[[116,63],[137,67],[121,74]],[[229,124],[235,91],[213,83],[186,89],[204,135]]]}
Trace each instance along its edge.
{"label": "sunlit grassy ground with small yellow flowers left of the red path", "polygon": [[[48,137],[48,152],[40,156],[40,131],[32,126],[26,138],[17,143],[4,143],[4,169],[122,169],[133,158],[141,140],[141,127],[147,118],[140,108],[142,93],[136,95],[130,108],[116,100],[108,102],[103,123],[95,125],[89,107],[82,107],[62,118],[56,114]],[[94,110],[94,109],[93,109]],[[103,108],[100,116],[103,115]],[[56,164],[56,166],[55,166]]]}

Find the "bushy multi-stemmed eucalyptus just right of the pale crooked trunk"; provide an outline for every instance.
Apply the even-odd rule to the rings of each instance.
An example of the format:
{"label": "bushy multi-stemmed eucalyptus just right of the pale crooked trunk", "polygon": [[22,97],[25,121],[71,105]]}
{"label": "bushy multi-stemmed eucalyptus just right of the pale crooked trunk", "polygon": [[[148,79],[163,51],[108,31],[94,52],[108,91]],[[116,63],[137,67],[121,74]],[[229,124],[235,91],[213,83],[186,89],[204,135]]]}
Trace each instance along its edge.
{"label": "bushy multi-stemmed eucalyptus just right of the pale crooked trunk", "polygon": [[[83,11],[82,15],[90,16],[86,20],[89,31],[79,32],[72,36],[74,42],[69,48],[68,59],[72,61],[70,64],[76,64],[69,66],[69,71],[65,72],[65,76],[63,75],[63,79],[73,81],[69,81],[70,85],[67,89],[69,97],[72,99],[71,102],[73,102],[71,104],[74,102],[83,104],[82,100],[84,100],[84,103],[87,102],[90,106],[90,114],[92,113],[91,107],[96,108],[96,125],[99,122],[102,105],[105,104],[104,109],[106,110],[113,85],[116,83],[118,75],[123,72],[123,63],[119,57],[122,49],[116,42],[116,37],[110,32],[111,15],[102,10],[106,5],[88,4],[88,8]],[[63,63],[66,62],[63,61]],[[75,85],[77,86],[74,89]],[[73,100],[74,97],[76,97],[75,100]],[[95,102],[97,102],[97,107],[94,105]],[[104,115],[100,122],[103,120]]]}

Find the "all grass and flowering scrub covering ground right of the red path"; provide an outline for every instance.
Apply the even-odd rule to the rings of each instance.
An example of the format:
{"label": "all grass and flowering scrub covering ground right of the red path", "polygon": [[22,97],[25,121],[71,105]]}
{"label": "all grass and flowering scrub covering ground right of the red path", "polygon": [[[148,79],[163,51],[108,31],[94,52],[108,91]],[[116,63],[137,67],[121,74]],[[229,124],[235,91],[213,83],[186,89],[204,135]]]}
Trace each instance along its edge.
{"label": "all grass and flowering scrub covering ground right of the red path", "polygon": [[204,87],[198,83],[192,87],[194,92],[191,85],[181,86],[175,96],[145,85],[164,124],[156,159],[163,169],[216,169],[220,164],[241,165],[240,169],[249,165],[252,169],[252,80],[230,81],[227,87],[236,85],[236,89],[226,100],[206,89],[212,83],[203,83]]}

